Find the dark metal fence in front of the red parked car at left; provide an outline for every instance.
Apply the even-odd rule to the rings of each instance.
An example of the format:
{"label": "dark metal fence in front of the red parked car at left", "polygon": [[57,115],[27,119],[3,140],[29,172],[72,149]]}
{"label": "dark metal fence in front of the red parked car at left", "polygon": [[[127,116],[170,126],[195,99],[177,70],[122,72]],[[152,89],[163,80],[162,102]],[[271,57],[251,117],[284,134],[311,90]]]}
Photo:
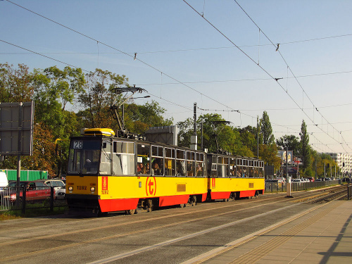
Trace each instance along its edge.
{"label": "dark metal fence in front of the red parked car at left", "polygon": [[1,210],[22,210],[67,206],[64,196],[56,196],[55,187],[7,187],[0,192]]}

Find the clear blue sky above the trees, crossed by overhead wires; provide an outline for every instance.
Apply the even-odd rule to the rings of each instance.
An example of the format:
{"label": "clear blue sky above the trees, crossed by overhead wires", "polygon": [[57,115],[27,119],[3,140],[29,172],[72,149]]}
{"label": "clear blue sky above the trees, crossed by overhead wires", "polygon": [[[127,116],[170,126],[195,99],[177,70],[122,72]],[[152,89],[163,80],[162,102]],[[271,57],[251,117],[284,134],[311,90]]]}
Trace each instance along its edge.
{"label": "clear blue sky above the trees, crossed by overhead wires", "polygon": [[349,0],[0,0],[0,63],[125,75],[151,96],[134,102],[157,101],[174,124],[194,103],[234,127],[267,111],[275,139],[299,137],[304,120],[313,149],[352,154],[351,11]]}

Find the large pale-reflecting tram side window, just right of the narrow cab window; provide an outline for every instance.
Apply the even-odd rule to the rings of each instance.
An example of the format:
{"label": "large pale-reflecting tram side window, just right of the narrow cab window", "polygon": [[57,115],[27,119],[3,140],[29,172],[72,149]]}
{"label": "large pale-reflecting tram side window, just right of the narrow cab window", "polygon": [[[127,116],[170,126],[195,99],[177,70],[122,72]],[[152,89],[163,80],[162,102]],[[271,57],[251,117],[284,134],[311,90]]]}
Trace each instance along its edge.
{"label": "large pale-reflecting tram side window, just right of the narrow cab window", "polygon": [[113,175],[134,175],[133,142],[113,142]]}

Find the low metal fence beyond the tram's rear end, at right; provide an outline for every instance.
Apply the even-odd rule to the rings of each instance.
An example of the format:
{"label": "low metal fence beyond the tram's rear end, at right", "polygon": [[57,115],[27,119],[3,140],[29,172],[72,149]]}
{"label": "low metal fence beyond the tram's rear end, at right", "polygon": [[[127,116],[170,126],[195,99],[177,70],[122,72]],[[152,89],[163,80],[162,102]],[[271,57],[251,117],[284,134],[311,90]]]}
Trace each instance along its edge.
{"label": "low metal fence beyond the tram's rear end, at right", "polygon": [[[341,180],[329,180],[321,182],[291,182],[291,191],[307,191],[310,189],[326,187],[334,184],[341,184]],[[286,182],[265,182],[266,192],[286,191]]]}

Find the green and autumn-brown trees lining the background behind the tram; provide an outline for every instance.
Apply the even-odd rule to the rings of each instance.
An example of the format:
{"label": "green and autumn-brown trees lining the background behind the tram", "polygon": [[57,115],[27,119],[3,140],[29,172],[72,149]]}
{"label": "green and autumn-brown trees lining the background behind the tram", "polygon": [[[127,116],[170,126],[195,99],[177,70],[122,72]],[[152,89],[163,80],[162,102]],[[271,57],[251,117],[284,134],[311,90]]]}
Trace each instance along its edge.
{"label": "green and autumn-brown trees lining the background behind the tram", "polygon": [[[48,170],[49,175],[65,173],[68,159],[68,139],[80,134],[82,127],[109,127],[118,129],[118,123],[111,115],[111,106],[119,101],[123,94],[116,93],[119,87],[130,87],[125,75],[117,75],[107,70],[96,69],[94,73],[84,75],[80,68],[56,66],[44,70],[29,72],[26,65],[17,68],[8,63],[0,63],[0,101],[34,101],[34,155],[23,158],[23,168],[30,170]],[[67,111],[68,105],[80,107],[78,113]],[[151,101],[144,105],[129,101],[125,103],[124,120],[127,130],[144,134],[149,127],[172,125],[172,118],[164,118],[165,108]],[[118,109],[122,115],[122,108]],[[257,127],[236,128],[228,125],[218,114],[206,114],[196,120],[196,133],[201,142],[201,124],[203,123],[203,146],[210,152],[219,149],[239,156],[253,157],[259,153],[269,165],[279,168],[277,146],[289,146],[296,154],[303,156],[305,175],[324,173],[324,162],[336,166],[329,156],[314,152],[309,146],[306,124],[301,126],[301,141],[298,137],[286,135],[277,140],[272,134],[269,115],[257,120]],[[192,118],[177,123],[179,127],[179,145],[189,146],[194,134]],[[218,146],[215,143],[215,135]],[[56,139],[60,139],[57,140]],[[55,145],[55,141],[57,144]],[[200,149],[200,144],[199,144]],[[0,163],[2,168],[15,168],[15,157],[6,157]]]}

